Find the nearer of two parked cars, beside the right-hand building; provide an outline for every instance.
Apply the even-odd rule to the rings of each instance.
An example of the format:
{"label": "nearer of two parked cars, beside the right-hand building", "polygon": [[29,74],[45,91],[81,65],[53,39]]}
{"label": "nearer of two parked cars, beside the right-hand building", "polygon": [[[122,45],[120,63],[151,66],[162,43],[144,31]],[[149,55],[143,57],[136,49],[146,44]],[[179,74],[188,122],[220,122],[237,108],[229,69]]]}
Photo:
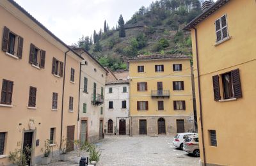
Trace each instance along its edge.
{"label": "nearer of two parked cars, beside the right-hand building", "polygon": [[198,135],[189,135],[183,142],[183,150],[193,154],[196,157],[200,156]]}

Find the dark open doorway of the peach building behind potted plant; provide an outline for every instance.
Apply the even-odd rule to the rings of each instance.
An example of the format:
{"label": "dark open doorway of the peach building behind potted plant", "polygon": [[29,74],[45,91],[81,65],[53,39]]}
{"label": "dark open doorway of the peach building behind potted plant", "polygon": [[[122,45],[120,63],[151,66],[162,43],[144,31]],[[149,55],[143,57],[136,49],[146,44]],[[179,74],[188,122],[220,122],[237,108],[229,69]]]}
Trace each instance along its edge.
{"label": "dark open doorway of the peach building behind potted plant", "polygon": [[26,154],[26,162],[28,165],[31,164],[31,151],[33,144],[33,132],[24,133],[24,140],[23,140],[23,151]]}

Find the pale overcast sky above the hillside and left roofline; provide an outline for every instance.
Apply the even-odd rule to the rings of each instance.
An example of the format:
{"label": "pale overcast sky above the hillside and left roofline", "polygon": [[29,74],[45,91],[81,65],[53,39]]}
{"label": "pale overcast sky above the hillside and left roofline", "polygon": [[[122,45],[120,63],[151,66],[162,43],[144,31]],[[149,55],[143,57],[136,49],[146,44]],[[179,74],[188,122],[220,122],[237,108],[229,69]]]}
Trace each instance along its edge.
{"label": "pale overcast sky above the hillside and left roofline", "polygon": [[82,35],[90,36],[94,29],[116,26],[120,14],[125,22],[141,6],[148,7],[153,0],[15,0],[36,20],[62,41],[71,45]]}

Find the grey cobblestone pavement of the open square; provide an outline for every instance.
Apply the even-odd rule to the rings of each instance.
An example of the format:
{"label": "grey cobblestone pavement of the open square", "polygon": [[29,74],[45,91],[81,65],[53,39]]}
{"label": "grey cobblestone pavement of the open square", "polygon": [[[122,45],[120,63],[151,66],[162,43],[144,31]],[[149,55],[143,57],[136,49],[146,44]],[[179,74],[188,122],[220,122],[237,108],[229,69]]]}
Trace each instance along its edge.
{"label": "grey cobblestone pavement of the open square", "polygon": [[[116,136],[106,135],[97,143],[101,151],[100,161],[97,166],[146,166],[146,165],[200,165],[199,159],[188,155],[172,145],[171,136]],[[75,164],[76,151],[70,153],[69,162],[60,162],[53,158],[50,165],[79,165]],[[88,153],[82,152],[88,156]]]}

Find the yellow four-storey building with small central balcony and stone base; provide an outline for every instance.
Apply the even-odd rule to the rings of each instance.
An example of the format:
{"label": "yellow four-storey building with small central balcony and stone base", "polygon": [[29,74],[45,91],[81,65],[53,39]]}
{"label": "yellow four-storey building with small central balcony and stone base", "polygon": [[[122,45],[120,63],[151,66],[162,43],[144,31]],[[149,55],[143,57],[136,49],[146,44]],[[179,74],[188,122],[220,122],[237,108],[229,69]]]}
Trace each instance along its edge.
{"label": "yellow four-storey building with small central balcony and stone base", "polygon": [[189,56],[128,59],[131,135],[173,135],[194,129]]}

